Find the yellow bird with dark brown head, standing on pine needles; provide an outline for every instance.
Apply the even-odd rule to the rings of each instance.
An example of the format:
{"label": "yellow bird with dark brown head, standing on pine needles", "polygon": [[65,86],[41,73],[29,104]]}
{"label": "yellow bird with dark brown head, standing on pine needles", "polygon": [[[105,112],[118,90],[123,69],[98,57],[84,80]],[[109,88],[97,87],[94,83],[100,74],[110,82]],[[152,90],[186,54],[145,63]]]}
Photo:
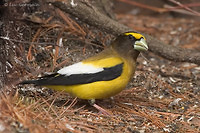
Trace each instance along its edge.
{"label": "yellow bird with dark brown head, standing on pine needles", "polygon": [[80,99],[95,100],[121,92],[136,68],[140,51],[148,50],[146,39],[136,32],[120,34],[99,54],[66,66],[55,74],[21,84],[35,84],[65,91]]}

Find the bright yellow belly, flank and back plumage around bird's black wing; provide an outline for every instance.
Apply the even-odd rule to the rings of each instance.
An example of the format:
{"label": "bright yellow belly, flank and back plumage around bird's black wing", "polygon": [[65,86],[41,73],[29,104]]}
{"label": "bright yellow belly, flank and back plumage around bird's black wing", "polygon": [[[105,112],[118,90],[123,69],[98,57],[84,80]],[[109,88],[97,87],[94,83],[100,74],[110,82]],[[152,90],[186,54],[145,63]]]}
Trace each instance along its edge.
{"label": "bright yellow belly, flank and back plumage around bird's black wing", "polygon": [[[112,63],[111,63],[112,62]],[[87,63],[87,62],[83,62]],[[66,91],[80,99],[103,99],[116,95],[121,92],[128,84],[134,68],[126,60],[119,57],[109,57],[98,61],[89,61],[89,63],[97,67],[110,67],[123,63],[123,71],[121,76],[109,81],[97,81],[87,84],[69,85],[69,86],[46,86],[54,90]]]}

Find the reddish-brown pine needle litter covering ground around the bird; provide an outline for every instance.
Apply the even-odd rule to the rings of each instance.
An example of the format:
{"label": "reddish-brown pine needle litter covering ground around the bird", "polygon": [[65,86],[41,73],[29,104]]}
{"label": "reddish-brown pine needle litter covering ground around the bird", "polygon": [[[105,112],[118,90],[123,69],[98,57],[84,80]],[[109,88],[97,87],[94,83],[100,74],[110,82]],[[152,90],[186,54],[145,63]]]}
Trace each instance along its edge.
{"label": "reddish-brown pine needle litter covering ground around the bird", "polygon": [[[114,99],[97,101],[112,112],[110,116],[64,92],[17,86],[21,80],[87,58],[109,43],[111,36],[74,21],[60,10],[56,14],[38,19],[41,25],[33,32],[30,45],[16,45],[24,50],[27,61],[16,56],[21,63],[8,75],[23,78],[15,79],[1,92],[0,132],[200,132],[199,66],[170,62],[152,53],[139,57],[129,89]],[[199,23],[192,20],[125,14],[117,17],[167,44],[200,49]]]}

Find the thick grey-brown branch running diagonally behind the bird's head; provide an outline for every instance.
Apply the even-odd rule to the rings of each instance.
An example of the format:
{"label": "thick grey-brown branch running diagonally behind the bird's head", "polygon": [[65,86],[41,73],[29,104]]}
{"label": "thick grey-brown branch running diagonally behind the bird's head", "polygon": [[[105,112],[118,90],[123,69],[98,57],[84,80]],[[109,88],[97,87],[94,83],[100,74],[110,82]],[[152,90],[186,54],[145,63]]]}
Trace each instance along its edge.
{"label": "thick grey-brown branch running diagonally behind the bird's head", "polygon": [[[75,3],[72,3],[72,1],[60,2],[58,0],[49,0],[49,2],[64,12],[79,18],[79,20],[91,26],[95,26],[102,31],[106,31],[107,33],[117,35],[122,32],[132,31],[129,27],[102,14],[88,2],[75,1]],[[144,35],[147,38],[151,52],[168,60],[190,62],[200,65],[200,52],[167,45],[150,35]]]}

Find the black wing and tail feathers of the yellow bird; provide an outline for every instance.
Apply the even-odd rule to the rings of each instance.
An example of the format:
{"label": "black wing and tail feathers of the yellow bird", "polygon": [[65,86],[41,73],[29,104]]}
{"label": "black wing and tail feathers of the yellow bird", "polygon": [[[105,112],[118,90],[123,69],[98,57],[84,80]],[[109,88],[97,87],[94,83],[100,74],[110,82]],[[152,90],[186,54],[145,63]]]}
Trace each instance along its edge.
{"label": "black wing and tail feathers of the yellow bird", "polygon": [[35,84],[35,85],[76,85],[86,84],[97,81],[109,81],[119,77],[123,71],[123,63],[113,67],[104,68],[103,71],[91,74],[51,74],[48,76],[41,77],[38,80],[23,81],[21,84]]}

